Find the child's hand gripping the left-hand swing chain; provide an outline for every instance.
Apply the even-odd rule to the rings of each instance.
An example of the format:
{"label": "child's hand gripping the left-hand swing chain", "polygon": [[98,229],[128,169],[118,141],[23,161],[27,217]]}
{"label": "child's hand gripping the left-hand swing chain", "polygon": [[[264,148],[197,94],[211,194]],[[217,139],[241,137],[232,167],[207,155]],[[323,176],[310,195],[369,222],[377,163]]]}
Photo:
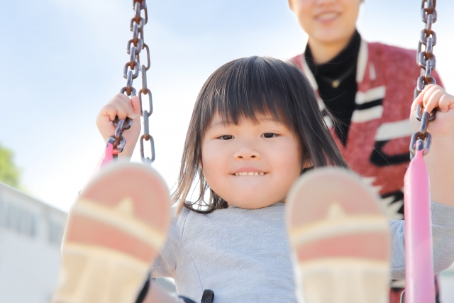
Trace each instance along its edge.
{"label": "child's hand gripping the left-hand swing chain", "polygon": [[140,104],[137,96],[129,99],[125,94],[117,94],[109,103],[104,105],[96,116],[96,126],[98,126],[99,133],[101,133],[104,141],[110,136],[114,135],[116,126],[114,126],[115,116],[118,119],[126,119],[126,117],[133,119],[131,128],[123,132],[126,138],[126,146],[123,153],[118,157],[131,157],[140,134]]}

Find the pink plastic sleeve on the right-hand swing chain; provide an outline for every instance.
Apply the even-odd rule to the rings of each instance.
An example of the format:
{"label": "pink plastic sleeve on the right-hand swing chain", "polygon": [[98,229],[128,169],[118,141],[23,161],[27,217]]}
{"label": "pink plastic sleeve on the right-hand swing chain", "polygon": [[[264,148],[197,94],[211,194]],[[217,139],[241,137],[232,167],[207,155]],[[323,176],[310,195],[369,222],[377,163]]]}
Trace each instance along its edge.
{"label": "pink plastic sleeve on the right-hand swing chain", "polygon": [[431,195],[423,141],[405,174],[406,303],[434,303]]}

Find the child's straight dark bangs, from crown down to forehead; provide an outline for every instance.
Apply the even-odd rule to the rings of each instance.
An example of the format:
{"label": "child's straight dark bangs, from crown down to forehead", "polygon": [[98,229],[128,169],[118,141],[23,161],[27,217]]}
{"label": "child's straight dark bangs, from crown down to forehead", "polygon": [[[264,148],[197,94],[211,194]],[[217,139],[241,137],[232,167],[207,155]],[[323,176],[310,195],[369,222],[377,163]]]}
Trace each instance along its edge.
{"label": "child's straight dark bangs, from crown down to forehead", "polygon": [[258,123],[261,116],[267,116],[293,128],[287,85],[279,70],[273,68],[267,59],[243,58],[214,72],[202,93],[208,107],[202,111],[202,133],[216,113],[226,124],[240,121]]}

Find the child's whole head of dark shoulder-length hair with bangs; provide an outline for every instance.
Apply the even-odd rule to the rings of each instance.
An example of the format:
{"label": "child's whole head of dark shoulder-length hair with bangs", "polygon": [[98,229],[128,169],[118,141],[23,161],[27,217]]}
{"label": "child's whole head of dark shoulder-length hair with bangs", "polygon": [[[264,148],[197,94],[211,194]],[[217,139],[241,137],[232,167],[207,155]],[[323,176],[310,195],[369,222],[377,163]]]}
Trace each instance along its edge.
{"label": "child's whole head of dark shoulder-length hair with bangs", "polygon": [[[298,138],[303,163],[312,167],[348,167],[319,110],[314,89],[301,70],[291,62],[272,57],[240,58],[219,67],[206,80],[196,99],[177,188],[172,194],[172,202],[179,202],[178,212],[183,206],[201,213],[228,207],[209,188],[202,170],[201,143],[216,113],[226,123],[234,124],[243,119],[255,123],[258,116],[270,114]],[[199,192],[196,201],[189,202],[187,197],[194,180]]]}

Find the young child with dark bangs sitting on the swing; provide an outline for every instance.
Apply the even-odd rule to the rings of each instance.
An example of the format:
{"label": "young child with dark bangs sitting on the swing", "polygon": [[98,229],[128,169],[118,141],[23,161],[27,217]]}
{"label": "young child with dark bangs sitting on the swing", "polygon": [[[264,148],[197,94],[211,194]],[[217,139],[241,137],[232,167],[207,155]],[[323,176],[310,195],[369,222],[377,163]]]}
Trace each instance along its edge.
{"label": "young child with dark bangs sitting on the swing", "polygon": [[[411,117],[421,102],[441,109],[429,125],[426,155],[439,272],[454,261],[454,97],[426,87]],[[117,95],[101,109],[99,131],[107,139],[115,116],[128,116],[134,121],[125,136],[135,142],[139,112],[136,97]],[[127,145],[121,157],[132,151]],[[374,194],[346,167],[298,67],[270,57],[228,62],[196,100],[168,231],[160,177],[143,165],[107,167],[70,212],[54,302],[133,302],[152,262],[153,277],[174,278],[179,294],[196,302],[204,290],[214,291],[215,303],[385,302],[388,225]],[[189,202],[194,185],[199,191]],[[391,276],[399,278],[404,221],[390,226]],[[191,301],[151,282],[145,302]]]}

